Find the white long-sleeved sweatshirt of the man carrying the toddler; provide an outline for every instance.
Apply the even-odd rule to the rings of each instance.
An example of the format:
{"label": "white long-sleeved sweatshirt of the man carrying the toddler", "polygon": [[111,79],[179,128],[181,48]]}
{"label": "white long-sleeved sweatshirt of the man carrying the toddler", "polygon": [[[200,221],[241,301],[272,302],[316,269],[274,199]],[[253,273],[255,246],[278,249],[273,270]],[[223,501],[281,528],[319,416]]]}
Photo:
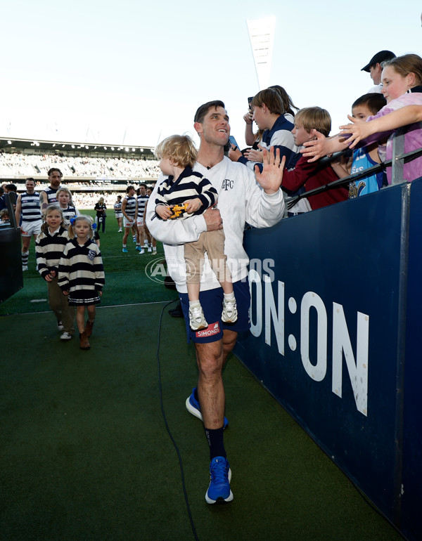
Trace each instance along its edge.
{"label": "white long-sleeved sweatshirt of the man carrying the toddler", "polygon": [[[243,249],[245,223],[256,228],[274,226],[284,216],[283,193],[279,190],[273,195],[267,195],[257,184],[252,171],[243,164],[231,162],[227,157],[211,169],[197,162],[193,170],[208,178],[218,192],[217,207],[223,220],[226,237],[224,253],[227,256],[231,278],[233,282],[245,279],[249,263]],[[198,240],[200,233],[207,230],[207,225],[203,215],[192,216],[186,220],[164,221],[158,218],[155,214],[155,193],[163,178],[160,175],[149,198],[146,225],[151,235],[164,245],[167,268],[176,283],[177,291],[186,293],[184,243]],[[212,209],[209,212],[212,212]],[[219,287],[219,282],[205,254],[200,289],[203,291],[215,287]]]}

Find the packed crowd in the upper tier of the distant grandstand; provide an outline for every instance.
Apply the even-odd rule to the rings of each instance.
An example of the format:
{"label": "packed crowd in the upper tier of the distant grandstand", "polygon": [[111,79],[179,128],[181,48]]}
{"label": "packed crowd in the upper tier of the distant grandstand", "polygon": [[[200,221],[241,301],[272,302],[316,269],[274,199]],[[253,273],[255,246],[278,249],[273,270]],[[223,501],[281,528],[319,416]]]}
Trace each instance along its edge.
{"label": "packed crowd in the upper tier of the distant grandstand", "polygon": [[61,169],[65,178],[88,176],[98,180],[157,178],[160,172],[155,159],[0,152],[0,176],[46,176],[51,167]]}

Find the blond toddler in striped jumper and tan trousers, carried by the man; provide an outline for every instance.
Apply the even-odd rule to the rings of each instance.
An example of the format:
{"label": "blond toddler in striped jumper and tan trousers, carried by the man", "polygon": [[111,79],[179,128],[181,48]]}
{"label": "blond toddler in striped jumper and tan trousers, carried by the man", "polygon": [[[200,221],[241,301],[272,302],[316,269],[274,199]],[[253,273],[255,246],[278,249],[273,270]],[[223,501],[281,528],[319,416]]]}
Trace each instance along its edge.
{"label": "blond toddler in striped jumper and tan trousers, carried by the man", "polygon": [[[160,169],[167,175],[158,188],[155,199],[155,214],[162,220],[174,217],[174,205],[185,204],[185,210],[177,219],[203,212],[217,203],[217,190],[202,174],[193,171],[196,162],[196,148],[188,136],[167,137],[155,149],[160,159]],[[204,254],[207,252],[212,270],[224,291],[222,321],[234,323],[237,320],[236,299],[231,282],[231,273],[224,254],[224,231],[205,231],[196,242],[184,245],[186,262],[186,287],[189,299],[189,325],[194,331],[206,329],[203,308],[199,302],[200,275],[203,270]]]}

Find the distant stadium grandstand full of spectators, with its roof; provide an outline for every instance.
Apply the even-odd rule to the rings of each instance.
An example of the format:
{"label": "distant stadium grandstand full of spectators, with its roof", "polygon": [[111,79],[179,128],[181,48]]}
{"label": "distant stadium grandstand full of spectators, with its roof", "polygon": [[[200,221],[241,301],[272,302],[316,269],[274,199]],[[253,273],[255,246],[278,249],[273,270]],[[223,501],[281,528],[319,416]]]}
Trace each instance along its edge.
{"label": "distant stadium grandstand full of spectators, with its roof", "polygon": [[63,185],[81,208],[94,206],[99,197],[109,206],[128,184],[154,185],[160,172],[149,146],[0,138],[1,184],[13,183],[20,193],[32,177],[35,189],[43,190],[51,167],[62,171]]}

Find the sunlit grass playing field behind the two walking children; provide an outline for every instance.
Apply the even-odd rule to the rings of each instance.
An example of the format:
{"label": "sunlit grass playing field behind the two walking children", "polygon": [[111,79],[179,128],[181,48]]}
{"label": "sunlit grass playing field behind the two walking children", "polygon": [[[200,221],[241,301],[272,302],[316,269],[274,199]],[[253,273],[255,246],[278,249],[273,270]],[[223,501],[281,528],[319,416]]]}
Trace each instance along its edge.
{"label": "sunlit grass playing field behind the two walking children", "polygon": [[[82,211],[93,216],[92,210]],[[106,272],[106,287],[103,289],[101,306],[136,304],[143,302],[170,301],[177,299],[177,292],[155,282],[146,275],[146,266],[151,261],[162,261],[164,249],[157,243],[157,255],[139,254],[129,237],[128,254],[122,253],[122,233],[117,233],[114,213],[108,212],[106,233],[101,236],[101,254]],[[46,282],[35,270],[35,245],[31,241],[28,271],[23,273],[23,289],[0,304],[0,315],[15,313],[44,312],[49,310]]]}

